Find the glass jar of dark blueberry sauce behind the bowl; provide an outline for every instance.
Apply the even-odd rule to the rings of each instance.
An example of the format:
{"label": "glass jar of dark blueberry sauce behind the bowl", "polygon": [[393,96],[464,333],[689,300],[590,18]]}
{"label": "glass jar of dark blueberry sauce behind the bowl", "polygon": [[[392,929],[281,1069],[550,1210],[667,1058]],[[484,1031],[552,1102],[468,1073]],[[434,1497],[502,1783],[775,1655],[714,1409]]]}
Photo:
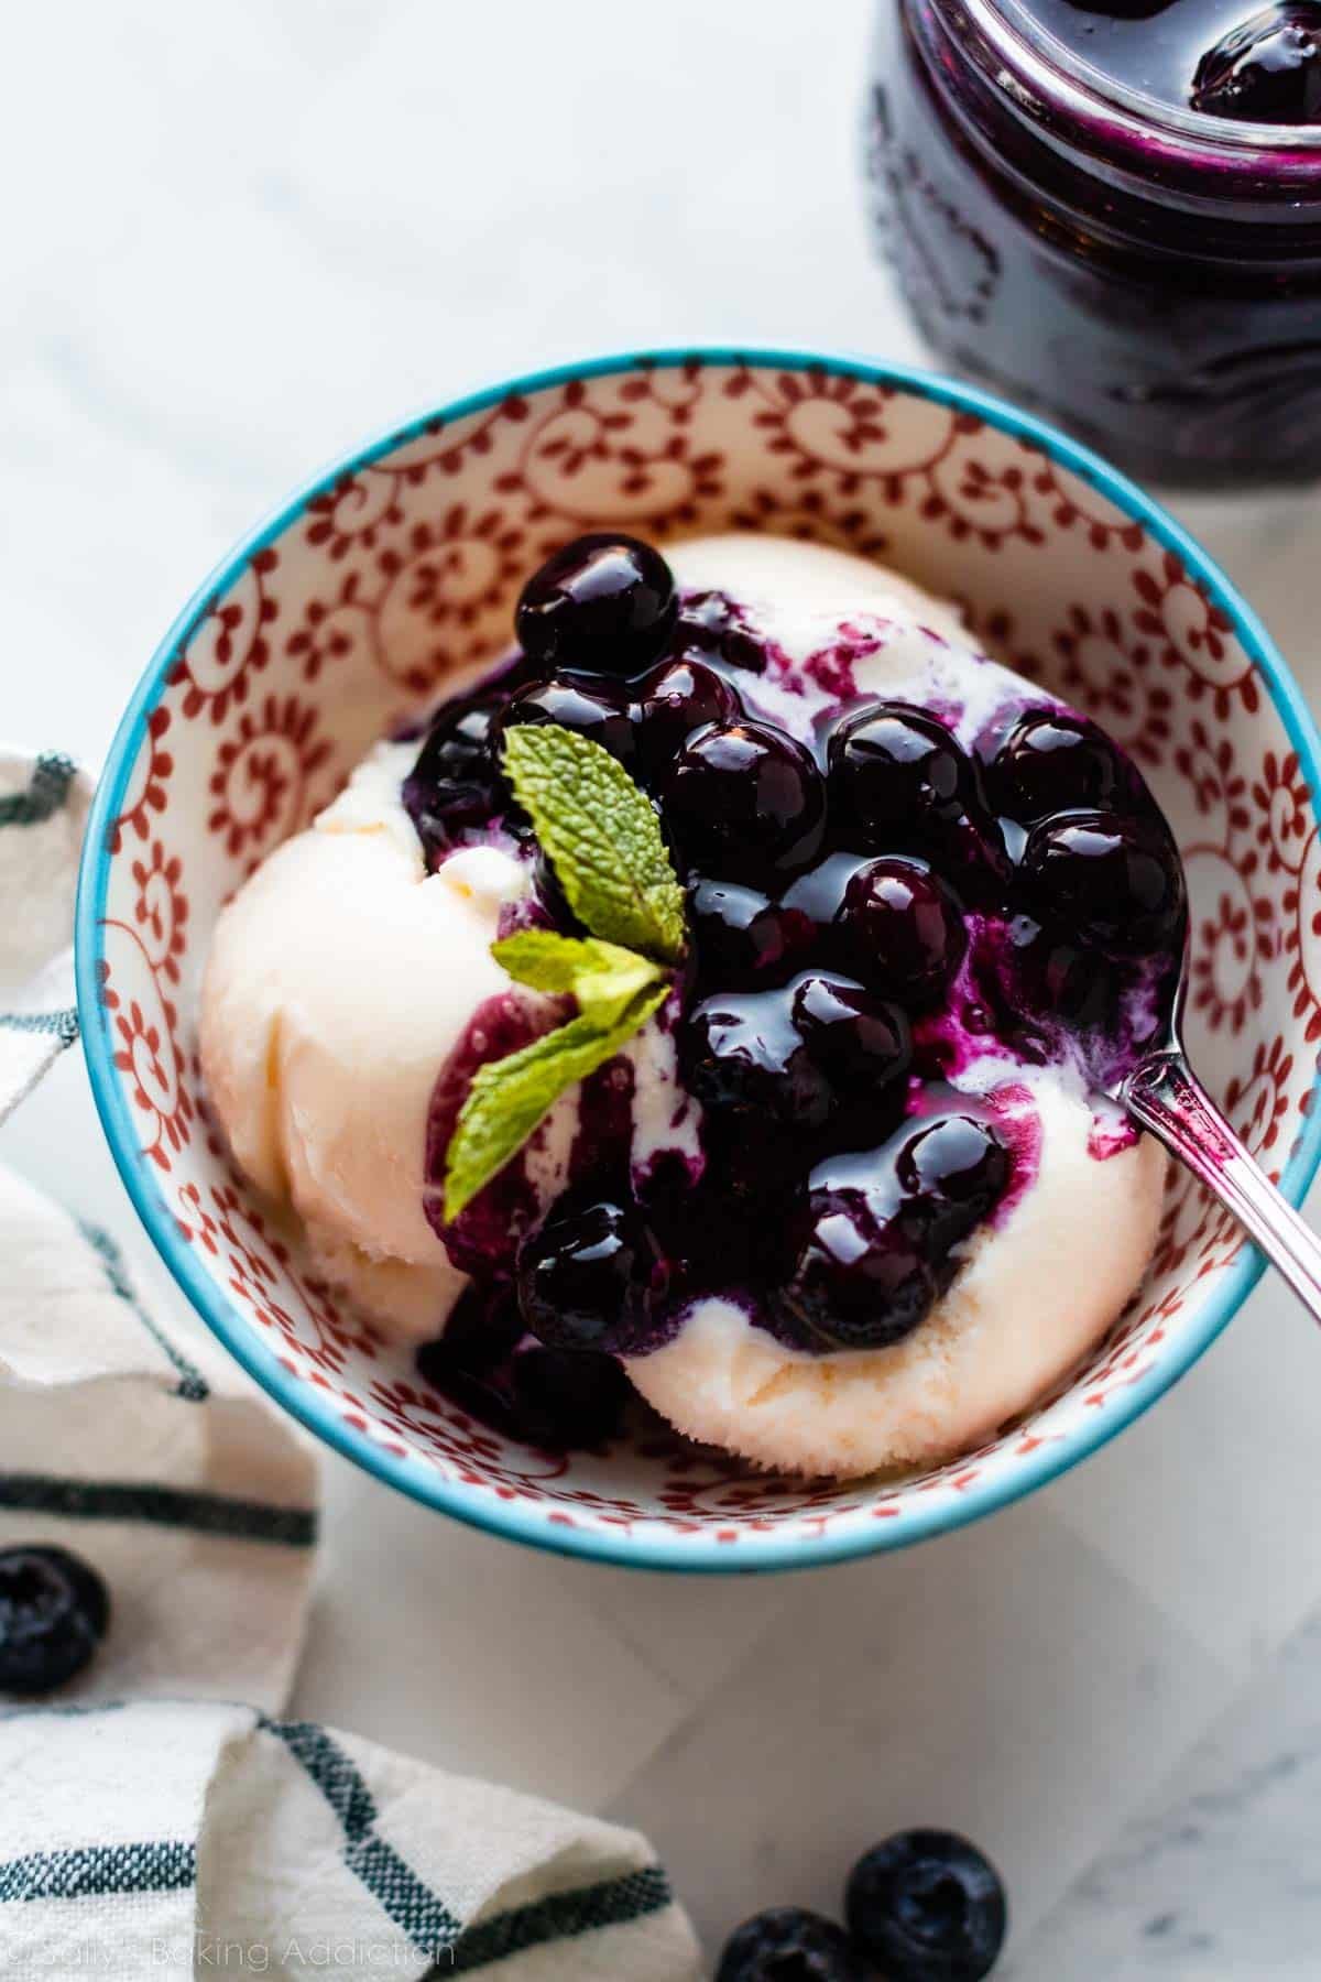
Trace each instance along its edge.
{"label": "glass jar of dark blueberry sauce behind the bowl", "polygon": [[1139,478],[1321,474],[1321,0],[881,0],[871,172],[943,363]]}

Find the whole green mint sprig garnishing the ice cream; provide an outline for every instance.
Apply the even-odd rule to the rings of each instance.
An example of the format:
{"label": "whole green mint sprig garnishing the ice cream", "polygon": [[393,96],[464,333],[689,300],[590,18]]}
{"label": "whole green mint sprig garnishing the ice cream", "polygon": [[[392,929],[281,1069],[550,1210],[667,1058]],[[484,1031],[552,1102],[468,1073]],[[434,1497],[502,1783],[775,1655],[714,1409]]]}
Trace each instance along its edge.
{"label": "whole green mint sprig garnishing the ice cream", "polygon": [[628,771],[559,723],[511,729],[505,771],[588,936],[519,930],[491,943],[491,955],[515,983],[572,997],[578,1013],[477,1068],[446,1152],[446,1221],[519,1154],[560,1094],[660,1011],[683,953],[683,890]]}

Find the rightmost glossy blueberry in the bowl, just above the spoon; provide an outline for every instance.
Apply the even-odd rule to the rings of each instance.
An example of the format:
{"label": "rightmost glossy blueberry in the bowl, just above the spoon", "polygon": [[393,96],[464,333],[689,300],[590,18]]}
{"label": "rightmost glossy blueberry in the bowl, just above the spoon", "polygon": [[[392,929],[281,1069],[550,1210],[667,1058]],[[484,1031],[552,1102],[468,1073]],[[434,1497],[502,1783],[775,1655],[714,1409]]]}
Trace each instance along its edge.
{"label": "rightmost glossy blueberry in the bowl, just above the spoon", "polygon": [[1184,882],[1169,832],[1115,813],[1058,813],[1028,834],[1022,878],[1042,920],[1119,955],[1169,947]]}

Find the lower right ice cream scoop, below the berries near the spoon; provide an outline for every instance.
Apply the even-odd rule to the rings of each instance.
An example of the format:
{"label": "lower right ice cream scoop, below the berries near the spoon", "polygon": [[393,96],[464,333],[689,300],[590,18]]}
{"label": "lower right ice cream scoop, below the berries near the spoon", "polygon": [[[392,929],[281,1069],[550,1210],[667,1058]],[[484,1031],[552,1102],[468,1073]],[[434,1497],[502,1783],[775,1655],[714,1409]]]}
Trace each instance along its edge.
{"label": "lower right ice cream scoop, below the berries near the spoon", "polygon": [[925,1322],[881,1350],[784,1348],[731,1300],[701,1300],[669,1344],[626,1368],[691,1439],[788,1473],[921,1467],[1028,1409],[1105,1334],[1143,1276],[1161,1221],[1165,1152],[1105,1159],[1093,1110],[1060,1068],[1014,1076],[1036,1120],[1036,1175],[966,1245]]}

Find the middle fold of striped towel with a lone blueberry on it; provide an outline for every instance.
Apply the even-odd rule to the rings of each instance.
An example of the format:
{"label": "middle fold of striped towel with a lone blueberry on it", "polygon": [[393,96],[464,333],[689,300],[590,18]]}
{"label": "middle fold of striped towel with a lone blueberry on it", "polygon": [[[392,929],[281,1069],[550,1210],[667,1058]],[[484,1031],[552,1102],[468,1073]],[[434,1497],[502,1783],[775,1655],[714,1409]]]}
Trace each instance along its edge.
{"label": "middle fold of striped towel with a lone blueberry on it", "polygon": [[115,1605],[77,1699],[275,1712],[303,1641],[315,1453],[200,1324],[156,1320],[105,1233],[2,1167],[0,1263],[0,1548],[71,1548]]}

